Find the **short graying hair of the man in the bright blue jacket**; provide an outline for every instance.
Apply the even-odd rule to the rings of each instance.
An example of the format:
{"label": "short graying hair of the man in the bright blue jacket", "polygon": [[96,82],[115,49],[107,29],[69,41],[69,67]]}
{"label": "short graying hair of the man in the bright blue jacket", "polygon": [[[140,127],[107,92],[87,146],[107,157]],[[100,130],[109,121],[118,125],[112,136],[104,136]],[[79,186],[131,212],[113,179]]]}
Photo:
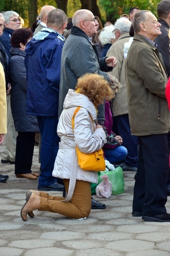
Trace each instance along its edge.
{"label": "short graying hair of the man in the bright blue jacket", "polygon": [[47,16],[47,27],[50,27],[49,24],[51,24],[52,26],[61,29],[66,22],[67,15],[61,9],[53,9]]}

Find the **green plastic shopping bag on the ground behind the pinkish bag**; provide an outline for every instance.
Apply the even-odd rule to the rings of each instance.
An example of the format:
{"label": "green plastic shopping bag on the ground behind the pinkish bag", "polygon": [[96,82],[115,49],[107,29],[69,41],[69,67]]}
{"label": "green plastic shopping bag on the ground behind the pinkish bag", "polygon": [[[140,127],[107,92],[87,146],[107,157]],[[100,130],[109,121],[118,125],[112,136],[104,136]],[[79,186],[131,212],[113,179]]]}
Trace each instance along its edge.
{"label": "green plastic shopping bag on the ground behind the pinkish bag", "polygon": [[112,194],[121,194],[124,192],[124,178],[123,170],[121,167],[117,167],[114,171],[103,171],[98,177],[98,182],[102,182],[100,178],[102,175],[108,175],[109,181],[112,182]]}

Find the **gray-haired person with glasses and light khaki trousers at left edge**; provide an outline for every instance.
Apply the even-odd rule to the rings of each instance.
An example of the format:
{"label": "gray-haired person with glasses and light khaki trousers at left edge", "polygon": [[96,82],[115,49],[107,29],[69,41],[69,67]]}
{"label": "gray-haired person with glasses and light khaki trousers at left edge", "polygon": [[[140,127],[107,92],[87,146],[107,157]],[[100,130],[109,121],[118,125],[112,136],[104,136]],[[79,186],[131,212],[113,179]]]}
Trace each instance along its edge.
{"label": "gray-haired person with glasses and light khaki trousers at left edge", "polygon": [[[0,43],[3,45],[5,52],[10,60],[10,49],[11,43],[10,38],[12,33],[20,28],[21,22],[19,20],[19,14],[15,11],[5,11],[3,13],[4,18],[4,30],[3,33],[0,35]],[[17,131],[14,127],[14,121],[12,118],[11,113],[11,105],[10,105],[10,90],[11,85],[7,83],[7,133],[4,136],[3,142],[3,152],[2,152],[2,159],[1,163],[15,163],[15,150],[16,150],[16,138],[17,138]]]}

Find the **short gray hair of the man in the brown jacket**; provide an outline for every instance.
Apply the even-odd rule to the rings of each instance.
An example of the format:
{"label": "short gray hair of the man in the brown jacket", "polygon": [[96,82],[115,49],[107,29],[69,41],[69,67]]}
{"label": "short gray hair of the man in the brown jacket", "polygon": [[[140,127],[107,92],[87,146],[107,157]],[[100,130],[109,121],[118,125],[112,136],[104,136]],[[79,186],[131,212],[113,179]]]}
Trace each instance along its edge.
{"label": "short gray hair of the man in the brown jacket", "polygon": [[146,13],[151,12],[149,10],[142,10],[135,14],[133,17],[132,25],[136,33],[141,31],[140,24],[146,22]]}

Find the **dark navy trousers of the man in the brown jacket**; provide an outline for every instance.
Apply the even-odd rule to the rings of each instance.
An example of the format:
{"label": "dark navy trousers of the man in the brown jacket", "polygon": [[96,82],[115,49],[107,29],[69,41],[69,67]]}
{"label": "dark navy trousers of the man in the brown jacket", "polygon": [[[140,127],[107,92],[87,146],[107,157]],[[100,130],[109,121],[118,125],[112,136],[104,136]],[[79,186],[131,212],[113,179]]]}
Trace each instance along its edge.
{"label": "dark navy trousers of the man in the brown jacket", "polygon": [[165,213],[169,173],[168,134],[139,136],[138,139],[133,211],[142,211],[143,215]]}

